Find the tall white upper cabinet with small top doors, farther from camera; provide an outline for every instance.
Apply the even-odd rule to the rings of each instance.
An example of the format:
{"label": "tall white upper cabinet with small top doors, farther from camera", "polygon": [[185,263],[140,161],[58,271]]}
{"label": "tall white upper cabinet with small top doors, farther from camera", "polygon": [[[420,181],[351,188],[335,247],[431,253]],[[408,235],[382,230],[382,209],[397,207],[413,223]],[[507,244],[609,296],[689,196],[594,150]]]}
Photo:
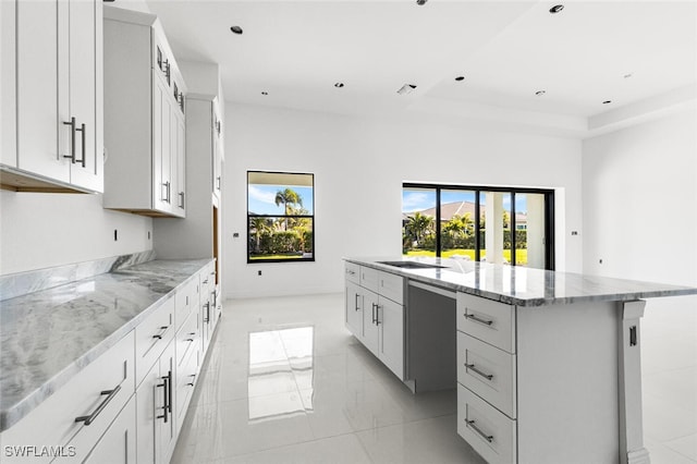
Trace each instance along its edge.
{"label": "tall white upper cabinet with small top doors, farther from camera", "polygon": [[105,7],[103,206],[186,216],[186,86],[157,16]]}

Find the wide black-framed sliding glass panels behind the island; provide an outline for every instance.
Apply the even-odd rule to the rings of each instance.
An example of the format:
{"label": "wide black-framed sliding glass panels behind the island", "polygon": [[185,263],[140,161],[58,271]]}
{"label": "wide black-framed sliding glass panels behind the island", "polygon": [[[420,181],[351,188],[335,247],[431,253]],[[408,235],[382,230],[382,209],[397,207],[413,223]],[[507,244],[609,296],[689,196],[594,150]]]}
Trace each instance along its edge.
{"label": "wide black-framed sliding glass panels behind the island", "polygon": [[554,269],[554,192],[404,184],[405,256]]}

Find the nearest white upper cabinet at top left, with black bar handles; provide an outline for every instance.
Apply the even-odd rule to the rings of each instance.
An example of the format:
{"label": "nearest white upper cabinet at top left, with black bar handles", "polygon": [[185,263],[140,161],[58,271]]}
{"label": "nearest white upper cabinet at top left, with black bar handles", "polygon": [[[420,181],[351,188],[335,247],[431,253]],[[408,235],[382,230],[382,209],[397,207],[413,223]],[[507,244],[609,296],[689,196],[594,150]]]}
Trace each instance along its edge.
{"label": "nearest white upper cabinet at top left, with black bar handles", "polygon": [[2,2],[3,186],[103,190],[101,11],[98,0]]}

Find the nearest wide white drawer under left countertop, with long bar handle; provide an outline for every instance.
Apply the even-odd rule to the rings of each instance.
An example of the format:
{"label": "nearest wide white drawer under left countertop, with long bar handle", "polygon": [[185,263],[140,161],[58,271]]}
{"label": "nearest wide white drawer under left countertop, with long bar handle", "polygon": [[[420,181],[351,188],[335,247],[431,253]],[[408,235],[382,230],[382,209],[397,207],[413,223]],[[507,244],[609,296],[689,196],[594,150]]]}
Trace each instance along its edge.
{"label": "nearest wide white drawer under left countertop, with long bar handle", "polygon": [[[135,391],[133,346],[134,333],[131,331],[3,431],[3,447],[70,444],[76,453],[71,457],[82,462]],[[16,462],[27,462],[26,456],[4,454],[2,462],[15,462],[15,457]]]}

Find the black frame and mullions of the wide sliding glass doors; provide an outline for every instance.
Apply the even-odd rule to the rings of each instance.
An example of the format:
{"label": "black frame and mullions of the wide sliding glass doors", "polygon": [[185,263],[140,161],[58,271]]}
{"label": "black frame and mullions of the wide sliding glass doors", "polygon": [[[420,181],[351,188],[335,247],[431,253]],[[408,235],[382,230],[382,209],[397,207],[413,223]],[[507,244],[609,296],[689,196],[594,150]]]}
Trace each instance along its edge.
{"label": "black frame and mullions of the wide sliding glass doors", "polygon": [[[481,194],[486,192],[500,192],[511,194],[511,224],[512,231],[512,246],[511,266],[515,266],[515,194],[542,194],[545,195],[545,269],[554,270],[555,257],[554,257],[554,190],[553,188],[539,188],[539,187],[506,187],[506,186],[488,186],[488,185],[458,185],[458,184],[433,184],[433,183],[420,183],[420,182],[403,182],[402,193],[407,188],[420,188],[432,190],[436,193],[436,216],[433,218],[436,223],[436,257],[441,257],[441,192],[442,191],[466,191],[475,194],[475,261],[481,260],[481,246],[480,243],[480,206]],[[403,212],[403,211],[402,211]],[[402,225],[404,227],[404,225]]]}

